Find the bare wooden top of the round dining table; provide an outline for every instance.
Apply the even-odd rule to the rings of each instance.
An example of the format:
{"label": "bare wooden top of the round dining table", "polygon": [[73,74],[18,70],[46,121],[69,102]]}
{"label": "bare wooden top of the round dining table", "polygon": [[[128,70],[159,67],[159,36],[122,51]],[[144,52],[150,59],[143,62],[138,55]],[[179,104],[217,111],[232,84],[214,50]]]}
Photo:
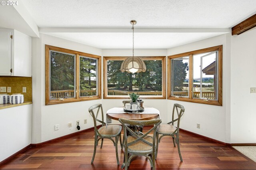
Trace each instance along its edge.
{"label": "bare wooden top of the round dining table", "polygon": [[158,118],[158,114],[139,114],[139,113],[121,113],[121,114],[115,114],[115,113],[107,113],[107,116],[110,119],[118,121],[119,118],[123,119],[130,119],[130,120],[136,120],[136,121],[147,121],[151,119]]}

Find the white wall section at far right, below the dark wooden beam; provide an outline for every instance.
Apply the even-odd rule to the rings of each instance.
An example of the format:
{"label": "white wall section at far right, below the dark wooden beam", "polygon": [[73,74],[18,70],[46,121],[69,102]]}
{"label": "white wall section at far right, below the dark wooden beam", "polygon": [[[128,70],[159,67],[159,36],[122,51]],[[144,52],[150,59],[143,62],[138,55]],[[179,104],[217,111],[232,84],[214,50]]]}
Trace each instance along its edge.
{"label": "white wall section at far right, below the dark wooden beam", "polygon": [[231,142],[256,143],[256,28],[231,38]]}

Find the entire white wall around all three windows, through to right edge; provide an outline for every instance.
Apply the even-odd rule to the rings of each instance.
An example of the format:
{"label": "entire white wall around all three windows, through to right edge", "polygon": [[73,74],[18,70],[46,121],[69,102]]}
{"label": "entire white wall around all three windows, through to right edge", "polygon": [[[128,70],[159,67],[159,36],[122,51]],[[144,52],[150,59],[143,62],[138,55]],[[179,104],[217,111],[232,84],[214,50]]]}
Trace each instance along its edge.
{"label": "entire white wall around all three windows, through to right edge", "polygon": [[[166,123],[171,119],[173,104],[180,103],[186,107],[181,128],[222,142],[255,143],[255,137],[252,137],[256,136],[256,127],[253,124],[256,118],[255,111],[241,107],[241,104],[251,106],[256,101],[256,94],[250,94],[250,87],[256,87],[256,80],[253,78],[256,73],[254,66],[256,60],[255,32],[254,29],[239,36],[224,34],[167,50],[135,49],[135,56],[166,56],[223,45],[222,106],[166,99],[144,99],[144,105],[157,108],[160,111],[161,119]],[[93,127],[92,118],[88,114],[88,107],[91,105],[102,103],[105,112],[112,107],[122,105],[123,99],[100,99],[45,106],[44,45],[54,45],[101,56],[130,56],[131,49],[98,49],[45,34],[41,34],[41,38],[33,38],[32,44],[32,143],[40,143],[76,132],[76,120],[80,120],[81,130]],[[241,60],[241,56],[245,56],[247,59]],[[231,82],[233,82],[232,85]],[[243,84],[244,88],[241,90],[241,84],[236,82],[248,83]],[[88,119],[88,123],[82,124],[83,119]],[[72,122],[73,127],[68,128],[69,122]],[[245,122],[246,126],[242,128],[237,126],[241,122]],[[200,129],[196,128],[196,123],[201,124]],[[60,125],[60,130],[54,130],[56,124]]]}

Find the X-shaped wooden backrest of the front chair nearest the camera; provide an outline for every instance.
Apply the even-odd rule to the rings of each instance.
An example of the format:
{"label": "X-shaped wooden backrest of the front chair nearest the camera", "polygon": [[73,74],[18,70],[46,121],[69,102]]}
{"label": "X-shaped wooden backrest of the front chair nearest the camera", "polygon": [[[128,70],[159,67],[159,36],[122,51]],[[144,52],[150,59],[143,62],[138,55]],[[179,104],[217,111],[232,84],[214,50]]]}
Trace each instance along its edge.
{"label": "X-shaped wooden backrest of the front chair nearest the camera", "polygon": [[[138,141],[144,142],[150,146],[152,146],[154,148],[155,146],[155,139],[156,139],[156,128],[158,127],[158,125],[160,125],[160,123],[162,122],[161,119],[153,119],[153,120],[148,120],[148,121],[134,121],[134,120],[130,120],[130,119],[119,119],[119,122],[123,125],[124,127],[124,144],[125,146],[130,146]],[[131,126],[146,126],[146,125],[154,125],[154,127],[152,127],[150,130],[148,130],[148,132],[138,135],[136,134],[134,131],[132,131],[132,129],[129,127],[129,125]],[[132,136],[134,136],[136,138],[136,140],[127,143],[127,132],[126,130],[128,130],[130,132],[130,134]],[[154,134],[153,134],[153,143],[148,142],[147,140],[145,140],[144,138],[154,130]]]}

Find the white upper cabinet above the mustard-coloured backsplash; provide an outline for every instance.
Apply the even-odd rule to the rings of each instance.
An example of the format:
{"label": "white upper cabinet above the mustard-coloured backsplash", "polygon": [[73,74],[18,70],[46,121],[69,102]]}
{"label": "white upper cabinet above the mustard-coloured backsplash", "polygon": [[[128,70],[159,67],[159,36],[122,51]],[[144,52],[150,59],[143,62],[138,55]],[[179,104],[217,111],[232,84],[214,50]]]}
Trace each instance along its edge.
{"label": "white upper cabinet above the mustard-coloured backsplash", "polygon": [[0,30],[0,75],[31,77],[31,37]]}

